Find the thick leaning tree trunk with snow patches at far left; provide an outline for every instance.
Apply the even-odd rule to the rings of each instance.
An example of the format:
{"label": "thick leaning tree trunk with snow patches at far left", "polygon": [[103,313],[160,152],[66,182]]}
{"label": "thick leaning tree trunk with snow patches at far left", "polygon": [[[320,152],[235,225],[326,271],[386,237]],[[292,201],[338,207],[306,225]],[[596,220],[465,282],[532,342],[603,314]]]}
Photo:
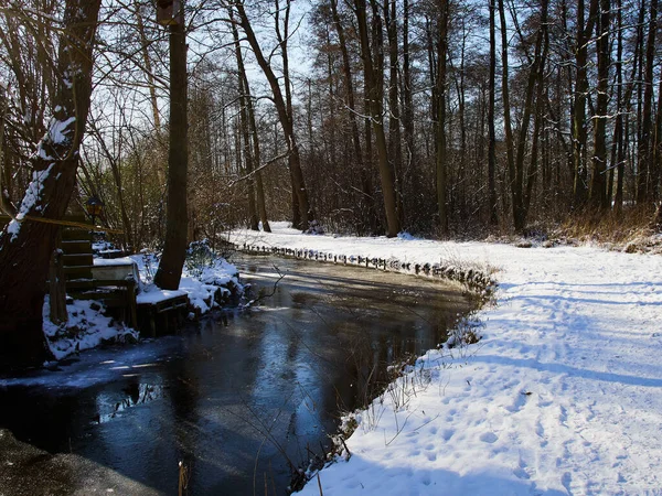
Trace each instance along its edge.
{"label": "thick leaning tree trunk with snow patches at far left", "polygon": [[[78,147],[92,94],[94,34],[100,0],[67,0],[57,61],[56,109],[33,157],[34,173],[18,218],[57,220],[76,181]],[[12,220],[0,237],[0,364],[39,365],[47,356],[42,308],[57,224]]]}

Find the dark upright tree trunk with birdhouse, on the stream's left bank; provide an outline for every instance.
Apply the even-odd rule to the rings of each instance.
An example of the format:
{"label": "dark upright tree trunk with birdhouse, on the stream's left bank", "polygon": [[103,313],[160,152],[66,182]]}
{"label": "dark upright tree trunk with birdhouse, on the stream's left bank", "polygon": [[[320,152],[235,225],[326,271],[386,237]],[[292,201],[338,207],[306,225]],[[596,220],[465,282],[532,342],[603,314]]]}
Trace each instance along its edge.
{"label": "dark upright tree trunk with birdhouse, on the stream's left bank", "polygon": [[[183,12],[183,2],[181,3]],[[183,18],[183,14],[181,14]],[[168,211],[166,245],[154,284],[179,289],[186,258],[189,122],[188,122],[186,32],[183,19],[170,31],[170,145],[168,150]]]}

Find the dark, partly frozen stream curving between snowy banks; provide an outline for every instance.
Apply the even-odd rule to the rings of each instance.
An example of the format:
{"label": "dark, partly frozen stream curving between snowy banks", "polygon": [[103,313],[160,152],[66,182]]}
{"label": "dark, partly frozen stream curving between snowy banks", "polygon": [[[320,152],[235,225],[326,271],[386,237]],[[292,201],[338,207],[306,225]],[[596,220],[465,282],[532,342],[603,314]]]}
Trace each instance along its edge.
{"label": "dark, partly frozen stream curving between snowy banks", "polygon": [[0,428],[18,440],[0,435],[0,494],[177,494],[180,461],[186,494],[286,494],[288,459],[329,446],[375,364],[435,347],[473,309],[435,281],[237,257],[254,290],[285,276],[259,308],[0,379]]}

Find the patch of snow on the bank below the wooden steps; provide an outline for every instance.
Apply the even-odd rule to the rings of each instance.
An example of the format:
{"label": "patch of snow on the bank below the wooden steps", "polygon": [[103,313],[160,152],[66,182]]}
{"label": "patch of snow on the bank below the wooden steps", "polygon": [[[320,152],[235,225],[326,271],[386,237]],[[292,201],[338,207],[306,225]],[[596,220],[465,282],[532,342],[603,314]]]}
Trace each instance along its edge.
{"label": "patch of snow on the bank below the wooden steps", "polygon": [[53,324],[46,295],[43,308],[44,335],[55,359],[94,348],[104,343],[132,343],[138,332],[104,315],[104,306],[93,301],[74,300],[66,305],[68,322]]}

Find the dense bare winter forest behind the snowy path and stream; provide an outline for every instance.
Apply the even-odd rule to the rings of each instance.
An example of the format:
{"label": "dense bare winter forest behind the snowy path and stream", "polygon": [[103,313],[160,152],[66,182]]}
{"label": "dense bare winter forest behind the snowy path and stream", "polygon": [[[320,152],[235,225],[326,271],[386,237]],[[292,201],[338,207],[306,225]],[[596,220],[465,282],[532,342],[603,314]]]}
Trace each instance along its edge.
{"label": "dense bare winter forest behind the snowy path and stream", "polygon": [[[74,3],[1,9],[4,205],[20,204],[40,166]],[[437,237],[634,206],[652,219],[662,169],[656,0],[181,9],[188,50],[173,56],[188,72],[190,240],[259,220],[268,228],[267,218]],[[157,18],[150,1],[104,1],[89,20],[98,28],[77,194],[103,200],[104,223],[132,250],[164,236],[172,52]]]}

